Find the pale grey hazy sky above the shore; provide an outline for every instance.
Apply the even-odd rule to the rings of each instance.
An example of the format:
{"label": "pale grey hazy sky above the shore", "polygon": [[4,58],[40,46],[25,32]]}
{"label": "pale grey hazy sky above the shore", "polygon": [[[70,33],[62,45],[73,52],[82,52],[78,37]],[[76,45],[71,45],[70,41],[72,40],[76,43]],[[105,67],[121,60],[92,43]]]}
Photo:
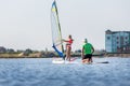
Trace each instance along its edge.
{"label": "pale grey hazy sky above the shore", "polygon": [[[53,0],[0,0],[0,46],[52,51]],[[73,51],[84,38],[105,49],[105,31],[130,30],[130,0],[56,0],[63,39],[73,35]]]}

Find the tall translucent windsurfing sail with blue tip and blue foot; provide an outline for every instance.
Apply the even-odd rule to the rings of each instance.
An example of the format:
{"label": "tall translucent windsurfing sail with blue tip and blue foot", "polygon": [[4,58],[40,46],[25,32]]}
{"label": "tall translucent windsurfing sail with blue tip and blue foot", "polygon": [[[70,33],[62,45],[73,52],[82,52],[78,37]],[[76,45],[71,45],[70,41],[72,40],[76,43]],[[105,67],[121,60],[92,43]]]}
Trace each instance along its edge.
{"label": "tall translucent windsurfing sail with blue tip and blue foot", "polygon": [[58,13],[55,0],[51,8],[51,28],[52,28],[52,42],[53,48],[60,57],[64,57],[64,48],[62,43],[62,31],[58,20]]}

